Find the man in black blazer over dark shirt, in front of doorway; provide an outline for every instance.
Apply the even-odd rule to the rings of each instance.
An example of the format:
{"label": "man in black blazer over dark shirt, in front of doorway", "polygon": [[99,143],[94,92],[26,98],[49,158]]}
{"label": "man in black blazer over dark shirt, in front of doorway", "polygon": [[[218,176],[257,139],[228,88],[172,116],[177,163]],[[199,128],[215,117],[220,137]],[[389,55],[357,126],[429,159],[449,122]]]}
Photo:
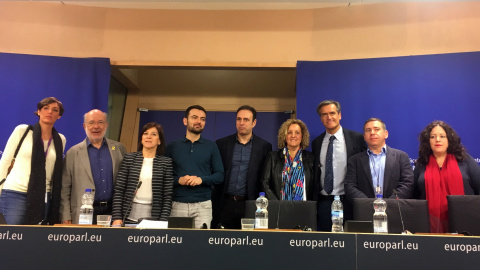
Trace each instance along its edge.
{"label": "man in black blazer over dark shirt, in front of doorway", "polygon": [[225,183],[212,194],[212,227],[240,229],[245,216],[245,200],[255,200],[261,186],[263,163],[272,144],[253,134],[257,111],[248,105],[237,109],[237,132],[217,140],[225,169]]}

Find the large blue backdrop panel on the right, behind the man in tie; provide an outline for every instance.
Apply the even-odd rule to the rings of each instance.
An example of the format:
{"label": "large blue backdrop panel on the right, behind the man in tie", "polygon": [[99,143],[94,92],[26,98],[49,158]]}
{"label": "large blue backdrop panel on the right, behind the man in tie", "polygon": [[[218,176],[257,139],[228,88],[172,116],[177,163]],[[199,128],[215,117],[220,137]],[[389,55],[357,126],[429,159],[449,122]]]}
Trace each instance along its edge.
{"label": "large blue backdrop panel on the right, behind the man in tie", "polygon": [[[382,119],[387,144],[418,156],[418,135],[433,120],[449,123],[474,158],[480,157],[480,53],[455,53],[297,63],[297,115],[312,139],[325,131],[317,105],[334,99],[343,127],[362,132]],[[478,161],[478,160],[477,160]]]}

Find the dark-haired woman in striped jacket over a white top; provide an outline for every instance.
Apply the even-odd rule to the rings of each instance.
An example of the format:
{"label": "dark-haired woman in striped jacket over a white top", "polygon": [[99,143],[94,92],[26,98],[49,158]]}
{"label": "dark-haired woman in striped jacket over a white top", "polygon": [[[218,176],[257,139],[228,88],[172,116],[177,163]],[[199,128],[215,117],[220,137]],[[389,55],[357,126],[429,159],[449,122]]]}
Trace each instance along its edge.
{"label": "dark-haired woman in striped jacket over a white top", "polygon": [[[172,208],[173,165],[163,156],[165,136],[162,126],[148,123],[142,128],[138,152],[123,158],[113,195],[113,223],[137,223],[140,218],[166,221]],[[142,182],[137,193],[135,190]],[[129,205],[132,202],[132,207]]]}

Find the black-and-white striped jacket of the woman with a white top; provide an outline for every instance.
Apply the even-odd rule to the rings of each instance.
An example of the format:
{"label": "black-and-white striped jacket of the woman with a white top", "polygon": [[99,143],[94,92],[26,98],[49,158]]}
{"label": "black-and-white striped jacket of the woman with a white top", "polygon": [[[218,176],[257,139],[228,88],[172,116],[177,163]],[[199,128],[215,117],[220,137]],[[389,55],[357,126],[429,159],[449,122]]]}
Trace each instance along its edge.
{"label": "black-and-white striped jacket of the woman with a white top", "polygon": [[[133,200],[135,189],[140,178],[143,165],[142,152],[125,154],[115,182],[113,194],[112,220],[122,219],[130,215],[127,208]],[[155,156],[152,169],[152,214],[151,217],[167,221],[172,209],[173,163],[172,159]]]}

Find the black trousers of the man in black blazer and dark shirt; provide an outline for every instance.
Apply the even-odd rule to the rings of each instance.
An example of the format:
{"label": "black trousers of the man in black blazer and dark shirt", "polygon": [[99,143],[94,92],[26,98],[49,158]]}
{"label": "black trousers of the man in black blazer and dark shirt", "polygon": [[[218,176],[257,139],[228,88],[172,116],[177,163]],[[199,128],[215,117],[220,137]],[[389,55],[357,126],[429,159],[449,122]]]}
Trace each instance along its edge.
{"label": "black trousers of the man in black blazer and dark shirt", "polygon": [[225,229],[241,229],[241,220],[245,217],[245,200],[234,200],[229,197],[223,198],[220,223]]}

